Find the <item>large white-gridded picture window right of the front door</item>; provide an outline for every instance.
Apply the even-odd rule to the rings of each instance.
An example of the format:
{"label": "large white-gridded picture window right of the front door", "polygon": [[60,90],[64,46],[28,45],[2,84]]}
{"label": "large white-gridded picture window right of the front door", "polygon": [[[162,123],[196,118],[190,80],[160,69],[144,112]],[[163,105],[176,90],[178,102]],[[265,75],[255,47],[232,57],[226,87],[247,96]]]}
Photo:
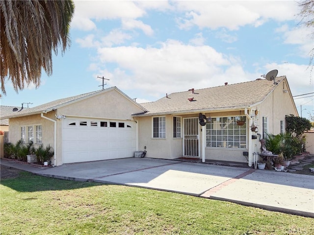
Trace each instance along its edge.
{"label": "large white-gridded picture window right of the front door", "polygon": [[236,124],[243,117],[211,118],[206,124],[206,146],[215,148],[246,148],[246,123]]}

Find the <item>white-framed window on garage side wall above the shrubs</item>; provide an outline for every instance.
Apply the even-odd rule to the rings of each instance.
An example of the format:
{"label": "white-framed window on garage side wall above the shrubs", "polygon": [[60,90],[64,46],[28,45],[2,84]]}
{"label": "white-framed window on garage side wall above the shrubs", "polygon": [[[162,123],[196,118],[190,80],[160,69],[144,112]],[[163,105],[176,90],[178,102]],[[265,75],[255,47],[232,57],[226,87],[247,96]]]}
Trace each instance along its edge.
{"label": "white-framed window on garage side wall above the shrubs", "polygon": [[20,137],[22,143],[29,143],[30,141],[33,141],[34,144],[42,144],[42,125],[35,124],[20,126]]}

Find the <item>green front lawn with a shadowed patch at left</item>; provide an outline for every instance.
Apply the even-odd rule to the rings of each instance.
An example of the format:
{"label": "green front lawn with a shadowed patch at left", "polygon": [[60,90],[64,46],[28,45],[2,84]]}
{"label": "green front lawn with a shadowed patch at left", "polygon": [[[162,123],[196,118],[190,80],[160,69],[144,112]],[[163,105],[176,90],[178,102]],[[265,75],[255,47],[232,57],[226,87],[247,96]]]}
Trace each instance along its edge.
{"label": "green front lawn with a shadowed patch at left", "polygon": [[314,234],[313,218],[27,172],[1,180],[0,203],[1,235]]}

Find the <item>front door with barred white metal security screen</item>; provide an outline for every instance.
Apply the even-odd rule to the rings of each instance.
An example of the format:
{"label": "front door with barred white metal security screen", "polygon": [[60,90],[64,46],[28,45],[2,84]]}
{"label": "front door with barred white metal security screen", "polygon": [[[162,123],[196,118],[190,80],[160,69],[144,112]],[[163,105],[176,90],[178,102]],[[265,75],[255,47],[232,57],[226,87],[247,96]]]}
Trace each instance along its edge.
{"label": "front door with barred white metal security screen", "polygon": [[183,118],[183,152],[186,157],[199,158],[198,118]]}

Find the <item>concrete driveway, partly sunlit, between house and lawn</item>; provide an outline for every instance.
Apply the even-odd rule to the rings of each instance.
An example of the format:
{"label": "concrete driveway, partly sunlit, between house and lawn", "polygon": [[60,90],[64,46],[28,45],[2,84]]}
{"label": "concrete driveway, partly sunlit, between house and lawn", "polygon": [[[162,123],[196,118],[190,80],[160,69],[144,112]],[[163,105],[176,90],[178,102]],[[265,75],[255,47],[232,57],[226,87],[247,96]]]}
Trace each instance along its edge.
{"label": "concrete driveway, partly sunlit, between house and lawn", "polygon": [[314,176],[182,161],[126,158],[37,168],[0,164],[65,180],[152,188],[314,218]]}

